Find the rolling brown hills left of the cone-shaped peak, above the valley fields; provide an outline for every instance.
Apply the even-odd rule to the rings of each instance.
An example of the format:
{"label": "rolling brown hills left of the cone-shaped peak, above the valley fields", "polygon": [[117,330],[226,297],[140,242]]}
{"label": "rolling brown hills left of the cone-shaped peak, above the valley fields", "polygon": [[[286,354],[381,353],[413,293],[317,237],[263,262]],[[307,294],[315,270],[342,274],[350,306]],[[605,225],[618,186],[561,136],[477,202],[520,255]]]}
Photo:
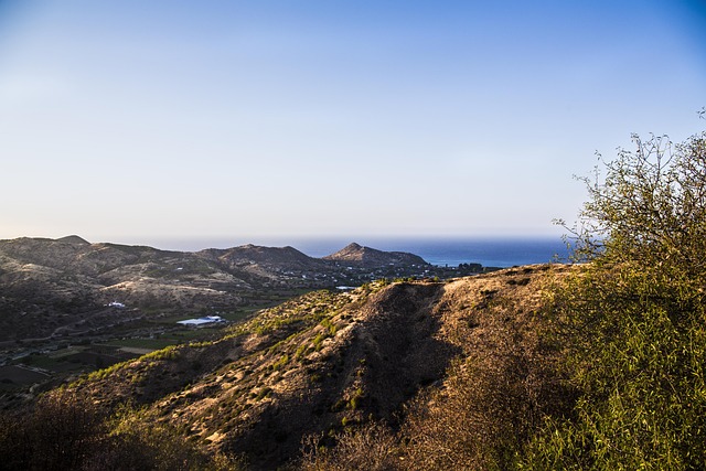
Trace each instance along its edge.
{"label": "rolling brown hills left of the cone-shaped peak, above the valley fields", "polygon": [[359,286],[417,270],[397,264],[391,271],[381,261],[365,264],[378,270],[362,272],[354,265],[312,258],[292,247],[184,253],[90,244],[78,236],[0,240],[0,342],[73,336],[115,325],[120,323],[115,314],[124,318],[125,311],[105,309],[114,301],[140,309],[133,317],[146,310],[228,311],[278,292]]}

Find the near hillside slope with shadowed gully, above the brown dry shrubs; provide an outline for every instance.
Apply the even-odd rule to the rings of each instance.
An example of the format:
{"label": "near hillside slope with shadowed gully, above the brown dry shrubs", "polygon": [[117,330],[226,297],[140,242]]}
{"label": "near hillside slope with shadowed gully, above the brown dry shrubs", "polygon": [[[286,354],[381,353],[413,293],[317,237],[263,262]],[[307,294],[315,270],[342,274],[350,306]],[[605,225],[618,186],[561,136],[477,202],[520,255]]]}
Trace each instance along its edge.
{"label": "near hillside slope with shadowed gully, above the brown dry shrubs", "polygon": [[72,389],[106,408],[147,406],[154,420],[206,450],[245,456],[254,470],[299,459],[306,437],[378,420],[402,426],[405,407],[425,392],[452,390],[451,372],[469,358],[486,373],[512,370],[518,386],[509,394],[490,382],[493,400],[539,410],[552,407],[559,386],[547,373],[556,352],[538,340],[537,309],[544,288],[567,269],[312,292],[220,340],[154,352]]}

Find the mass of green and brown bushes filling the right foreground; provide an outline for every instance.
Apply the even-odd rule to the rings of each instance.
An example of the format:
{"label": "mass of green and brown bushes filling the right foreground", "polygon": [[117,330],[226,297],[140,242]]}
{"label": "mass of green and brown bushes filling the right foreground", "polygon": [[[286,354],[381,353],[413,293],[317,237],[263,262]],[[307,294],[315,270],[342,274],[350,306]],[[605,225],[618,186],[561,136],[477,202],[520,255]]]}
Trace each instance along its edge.
{"label": "mass of green and brown bushes filling the right foreground", "polygon": [[399,430],[346,433],[306,469],[706,469],[706,133],[634,142],[586,181],[587,264],[549,290],[536,344],[499,324]]}

